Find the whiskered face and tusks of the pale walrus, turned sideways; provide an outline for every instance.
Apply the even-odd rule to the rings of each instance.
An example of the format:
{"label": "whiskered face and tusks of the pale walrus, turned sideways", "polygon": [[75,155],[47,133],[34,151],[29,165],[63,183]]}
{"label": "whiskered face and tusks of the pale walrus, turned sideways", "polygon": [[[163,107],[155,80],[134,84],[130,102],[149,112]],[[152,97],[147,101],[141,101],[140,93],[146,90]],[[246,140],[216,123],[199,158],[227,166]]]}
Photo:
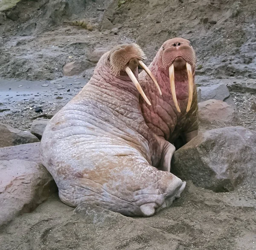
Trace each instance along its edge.
{"label": "whiskered face and tusks of the pale walrus, turned sideways", "polygon": [[151,105],[151,102],[149,101],[148,97],[146,97],[143,89],[140,86],[140,83],[134,75],[134,71],[137,70],[138,66],[140,65],[154,82],[154,84],[157,86],[160,95],[162,95],[157,80],[154,78],[151,71],[142,61],[145,58],[146,57],[144,52],[137,44],[118,45],[113,48],[108,54],[108,61],[110,62],[112,74],[114,76],[128,75],[137,90],[140,92],[145,102],[147,102],[148,105]]}

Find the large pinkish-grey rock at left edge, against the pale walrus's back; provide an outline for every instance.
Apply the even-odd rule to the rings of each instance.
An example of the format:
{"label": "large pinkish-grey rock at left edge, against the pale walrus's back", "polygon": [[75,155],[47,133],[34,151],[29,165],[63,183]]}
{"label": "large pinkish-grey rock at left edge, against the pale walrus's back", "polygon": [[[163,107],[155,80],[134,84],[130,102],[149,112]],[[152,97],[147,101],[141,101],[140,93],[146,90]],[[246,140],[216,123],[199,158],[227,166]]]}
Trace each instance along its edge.
{"label": "large pinkish-grey rock at left edge, against the pale walrus's back", "polygon": [[[29,213],[57,191],[52,176],[39,161],[39,144],[0,149],[0,227]],[[35,150],[36,149],[36,150]],[[31,154],[35,154],[31,156]],[[16,158],[17,157],[17,158]]]}

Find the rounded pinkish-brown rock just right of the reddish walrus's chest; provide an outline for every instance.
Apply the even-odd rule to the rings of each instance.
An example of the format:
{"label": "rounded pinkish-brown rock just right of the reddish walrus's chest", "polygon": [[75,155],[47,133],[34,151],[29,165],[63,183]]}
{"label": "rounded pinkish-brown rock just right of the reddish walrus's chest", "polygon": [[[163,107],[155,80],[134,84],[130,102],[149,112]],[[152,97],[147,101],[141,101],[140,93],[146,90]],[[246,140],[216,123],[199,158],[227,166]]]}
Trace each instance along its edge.
{"label": "rounded pinkish-brown rock just right of the reddish walrus's chest", "polygon": [[235,118],[235,111],[226,102],[210,99],[198,103],[198,119],[203,123],[231,122]]}

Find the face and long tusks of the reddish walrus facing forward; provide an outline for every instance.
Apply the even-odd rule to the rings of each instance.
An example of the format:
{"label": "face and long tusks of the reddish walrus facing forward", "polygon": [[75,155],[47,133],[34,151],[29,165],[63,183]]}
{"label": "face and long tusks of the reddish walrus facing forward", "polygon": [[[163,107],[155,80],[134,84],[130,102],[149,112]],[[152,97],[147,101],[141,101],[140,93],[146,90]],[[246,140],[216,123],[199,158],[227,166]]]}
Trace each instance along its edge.
{"label": "face and long tusks of the reddish walrus facing forward", "polygon": [[189,100],[186,107],[186,112],[191,108],[193,97],[193,72],[195,71],[195,51],[189,40],[183,38],[173,38],[163,43],[161,48],[160,60],[163,69],[169,69],[169,79],[173,101],[177,111],[180,112],[180,107],[177,102],[175,91],[175,71],[186,70],[189,85]]}

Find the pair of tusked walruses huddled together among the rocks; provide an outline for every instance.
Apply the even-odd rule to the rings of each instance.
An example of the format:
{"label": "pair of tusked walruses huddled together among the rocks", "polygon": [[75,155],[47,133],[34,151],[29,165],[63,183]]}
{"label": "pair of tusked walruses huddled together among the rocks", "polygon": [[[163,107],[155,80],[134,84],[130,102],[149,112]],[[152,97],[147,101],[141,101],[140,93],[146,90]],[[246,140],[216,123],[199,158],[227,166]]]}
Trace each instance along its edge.
{"label": "pair of tusked walruses huddled together among the rocks", "polygon": [[184,190],[186,182],[170,173],[170,142],[197,135],[195,51],[174,38],[148,68],[144,58],[136,44],[105,53],[87,85],[47,125],[41,159],[65,204],[152,216]]}

